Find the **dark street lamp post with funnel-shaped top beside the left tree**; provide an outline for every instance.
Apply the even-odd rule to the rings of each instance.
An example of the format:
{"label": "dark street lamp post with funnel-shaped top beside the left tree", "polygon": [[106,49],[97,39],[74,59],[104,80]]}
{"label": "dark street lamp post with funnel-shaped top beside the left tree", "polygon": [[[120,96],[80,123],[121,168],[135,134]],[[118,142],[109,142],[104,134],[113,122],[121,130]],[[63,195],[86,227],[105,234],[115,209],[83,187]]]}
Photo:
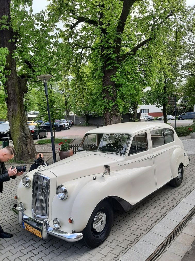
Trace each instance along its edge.
{"label": "dark street lamp post with funnel-shaped top beside the left tree", "polygon": [[46,99],[47,99],[47,110],[48,110],[48,116],[49,116],[49,128],[50,128],[50,133],[51,133],[51,147],[52,147],[52,152],[53,152],[53,159],[54,159],[54,162],[56,162],[56,152],[55,152],[54,136],[53,136],[52,125],[51,125],[51,116],[50,116],[49,102],[48,102],[48,88],[47,88],[47,82],[51,77],[53,77],[53,75],[50,75],[50,74],[36,76],[37,79],[42,80],[44,87],[45,87],[45,94],[46,94]]}

